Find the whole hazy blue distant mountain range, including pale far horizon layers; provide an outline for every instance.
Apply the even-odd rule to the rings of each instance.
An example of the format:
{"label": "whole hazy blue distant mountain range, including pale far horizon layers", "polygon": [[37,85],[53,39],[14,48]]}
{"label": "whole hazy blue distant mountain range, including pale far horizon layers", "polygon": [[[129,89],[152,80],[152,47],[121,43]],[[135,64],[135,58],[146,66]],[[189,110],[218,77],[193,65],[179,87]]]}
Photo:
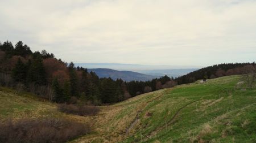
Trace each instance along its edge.
{"label": "whole hazy blue distant mountain range, including pale far horizon layers", "polygon": [[198,66],[168,66],[121,63],[76,63],[76,66],[88,68],[99,77],[121,78],[125,81],[147,81],[156,77],[178,77],[199,69]]}

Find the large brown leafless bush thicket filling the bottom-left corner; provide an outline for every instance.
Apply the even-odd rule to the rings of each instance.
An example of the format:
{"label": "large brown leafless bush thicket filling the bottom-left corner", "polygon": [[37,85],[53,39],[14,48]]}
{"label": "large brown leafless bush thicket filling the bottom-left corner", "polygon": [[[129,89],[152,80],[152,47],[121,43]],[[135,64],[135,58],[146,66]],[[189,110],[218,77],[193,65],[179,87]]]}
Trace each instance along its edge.
{"label": "large brown leafless bush thicket filling the bottom-left corner", "polygon": [[90,132],[88,124],[65,119],[22,119],[0,124],[0,142],[66,142]]}

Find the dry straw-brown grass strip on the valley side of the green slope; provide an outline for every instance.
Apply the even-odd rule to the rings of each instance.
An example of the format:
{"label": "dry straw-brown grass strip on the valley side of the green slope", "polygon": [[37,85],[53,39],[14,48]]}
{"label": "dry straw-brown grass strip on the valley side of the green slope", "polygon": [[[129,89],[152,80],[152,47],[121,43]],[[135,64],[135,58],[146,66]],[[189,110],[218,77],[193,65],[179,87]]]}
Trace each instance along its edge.
{"label": "dry straw-brown grass strip on the valley side of the green slope", "polygon": [[[124,140],[126,129],[134,122],[138,112],[142,111],[149,102],[157,100],[166,90],[170,89],[142,94],[112,106],[101,107],[99,114],[94,116],[94,130],[97,131],[97,135],[80,137],[73,142],[120,142]],[[122,112],[125,112],[125,115],[118,118]],[[139,124],[140,121],[130,130],[129,135],[136,131]]]}

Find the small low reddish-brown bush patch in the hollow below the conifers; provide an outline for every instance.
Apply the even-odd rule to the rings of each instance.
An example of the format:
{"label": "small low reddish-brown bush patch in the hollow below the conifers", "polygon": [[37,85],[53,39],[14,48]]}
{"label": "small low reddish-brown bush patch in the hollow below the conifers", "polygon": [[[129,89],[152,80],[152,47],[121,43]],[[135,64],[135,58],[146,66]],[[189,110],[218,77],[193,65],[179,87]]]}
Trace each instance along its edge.
{"label": "small low reddish-brown bush patch in the hollow below the conifers", "polygon": [[89,106],[89,105],[67,105],[67,104],[61,104],[59,105],[59,111],[65,112],[68,114],[75,114],[75,115],[96,115],[100,108],[96,106]]}

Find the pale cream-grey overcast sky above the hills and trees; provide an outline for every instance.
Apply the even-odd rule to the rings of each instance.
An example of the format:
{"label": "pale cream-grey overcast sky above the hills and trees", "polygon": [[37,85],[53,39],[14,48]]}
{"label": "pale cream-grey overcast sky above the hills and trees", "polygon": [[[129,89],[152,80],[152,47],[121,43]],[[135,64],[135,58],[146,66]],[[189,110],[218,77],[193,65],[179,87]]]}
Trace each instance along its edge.
{"label": "pale cream-grey overcast sky above the hills and trees", "polygon": [[75,63],[253,62],[256,1],[1,0],[0,33]]}

